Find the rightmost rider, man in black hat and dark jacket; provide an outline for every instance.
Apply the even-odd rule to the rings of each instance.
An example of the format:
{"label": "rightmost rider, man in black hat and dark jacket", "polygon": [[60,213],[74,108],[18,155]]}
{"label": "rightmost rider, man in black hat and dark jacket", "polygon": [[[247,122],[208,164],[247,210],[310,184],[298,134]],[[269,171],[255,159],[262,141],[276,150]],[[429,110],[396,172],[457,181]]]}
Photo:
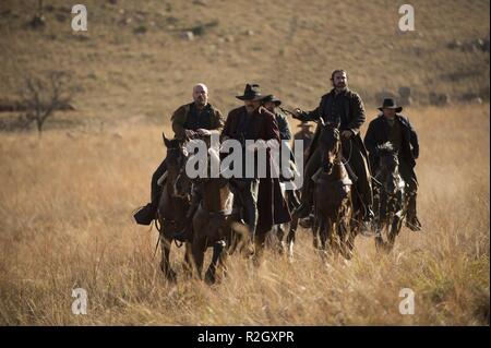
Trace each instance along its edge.
{"label": "rightmost rider, man in black hat and dark jacket", "polygon": [[382,113],[372,120],[364,135],[364,145],[370,154],[372,172],[378,171],[379,157],[376,147],[386,142],[391,142],[397,149],[399,157],[399,172],[407,184],[409,195],[408,214],[406,226],[411,230],[421,229],[421,224],[416,213],[416,193],[418,180],[416,178],[415,166],[419,156],[418,134],[409,123],[409,120],[402,116],[402,107],[398,107],[393,98],[386,98],[382,107]]}

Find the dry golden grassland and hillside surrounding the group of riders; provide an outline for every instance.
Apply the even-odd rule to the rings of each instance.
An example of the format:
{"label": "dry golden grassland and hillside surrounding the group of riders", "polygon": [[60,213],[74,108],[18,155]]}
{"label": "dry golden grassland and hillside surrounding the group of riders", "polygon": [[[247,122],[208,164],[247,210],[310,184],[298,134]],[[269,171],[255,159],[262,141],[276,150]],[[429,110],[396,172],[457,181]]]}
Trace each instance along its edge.
{"label": "dry golden grassland and hillside surrounding the group of riders", "polygon": [[[0,1],[0,103],[51,70],[80,88],[76,110],[57,112],[40,140],[0,131],[1,325],[489,325],[490,56],[448,48],[489,38],[489,1],[414,0],[412,33],[397,29],[405,1],[82,3],[88,32],[74,34],[65,1],[44,1],[40,29],[26,27],[37,1]],[[327,264],[301,230],[294,263],[266,251],[255,268],[232,255],[219,285],[167,284],[157,231],[132,212],[149,199],[170,112],[196,82],[224,111],[246,82],[312,109],[336,68],[370,119],[376,92],[411,87],[423,230],[403,228],[391,254],[359,237],[350,262]],[[430,106],[430,92],[451,104]],[[172,250],[178,277],[182,256]],[[79,287],[86,315],[72,314]],[[403,288],[415,291],[414,315],[399,313]]]}

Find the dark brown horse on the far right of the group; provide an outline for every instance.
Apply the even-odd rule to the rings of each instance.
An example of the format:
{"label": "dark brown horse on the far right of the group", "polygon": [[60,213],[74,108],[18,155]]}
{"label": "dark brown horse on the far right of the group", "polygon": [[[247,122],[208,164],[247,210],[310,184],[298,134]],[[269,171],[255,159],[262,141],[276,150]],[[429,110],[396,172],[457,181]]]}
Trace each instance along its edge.
{"label": "dark brown horse on the far right of the group", "polygon": [[387,142],[376,151],[380,163],[373,180],[375,245],[378,250],[391,251],[406,217],[405,182],[399,175],[399,160],[393,145]]}

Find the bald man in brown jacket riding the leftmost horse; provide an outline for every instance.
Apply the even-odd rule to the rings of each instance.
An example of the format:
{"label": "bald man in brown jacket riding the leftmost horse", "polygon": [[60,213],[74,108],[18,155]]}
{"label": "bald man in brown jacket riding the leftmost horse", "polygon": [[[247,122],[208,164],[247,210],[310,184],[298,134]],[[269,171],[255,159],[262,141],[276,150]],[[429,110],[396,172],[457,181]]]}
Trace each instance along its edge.
{"label": "bald man in brown jacket riding the leftmost horse", "polygon": [[[173,111],[170,120],[176,139],[185,140],[196,135],[209,135],[209,131],[221,132],[225,119],[221,112],[208,103],[208,88],[203,83],[193,86],[193,101]],[[149,225],[156,218],[161,190],[158,179],[166,172],[166,159],[152,176],[151,203],[141,208],[134,218],[140,225]]]}

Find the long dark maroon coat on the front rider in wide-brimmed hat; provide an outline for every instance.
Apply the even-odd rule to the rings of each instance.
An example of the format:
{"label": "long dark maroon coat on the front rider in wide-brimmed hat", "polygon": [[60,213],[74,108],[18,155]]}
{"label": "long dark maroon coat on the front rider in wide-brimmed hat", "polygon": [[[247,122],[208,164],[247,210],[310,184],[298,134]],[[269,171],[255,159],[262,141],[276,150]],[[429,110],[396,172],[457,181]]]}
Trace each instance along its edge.
{"label": "long dark maroon coat on the front rider in wide-brimmed hat", "polygon": [[[228,113],[225,122],[221,136],[228,136],[241,141],[241,135],[238,134],[238,127],[242,113],[246,112],[246,107],[239,107]],[[251,122],[249,123],[249,131],[246,140],[276,140],[280,141],[278,123],[275,116],[265,108],[260,107],[258,111],[252,113]],[[270,170],[267,170],[270,172]],[[258,194],[258,233],[265,233],[275,224],[283,224],[291,220],[288,204],[283,197],[277,178],[262,178],[260,179],[259,194]]]}

